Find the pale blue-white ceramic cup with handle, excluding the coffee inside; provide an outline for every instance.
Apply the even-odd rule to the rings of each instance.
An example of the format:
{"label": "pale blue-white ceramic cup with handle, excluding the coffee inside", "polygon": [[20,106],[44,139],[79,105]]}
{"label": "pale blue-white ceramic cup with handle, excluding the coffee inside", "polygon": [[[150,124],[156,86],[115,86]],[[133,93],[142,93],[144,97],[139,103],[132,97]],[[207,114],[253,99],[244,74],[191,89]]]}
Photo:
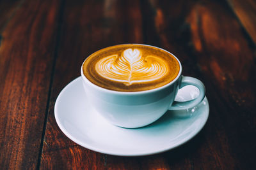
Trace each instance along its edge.
{"label": "pale blue-white ceramic cup with handle, excluding the coffee inside", "polygon": [[[170,55],[173,54],[170,53]],[[173,56],[175,57],[175,55]],[[175,58],[177,59],[177,57]],[[179,60],[178,62],[180,65],[179,74],[173,81],[162,87],[140,92],[119,92],[99,87],[84,76],[82,64],[81,76],[86,97],[88,97],[91,106],[111,124],[126,128],[152,124],[166,111],[192,108],[205,97],[204,84],[196,78],[182,76],[182,66]],[[191,101],[174,101],[178,90],[186,85],[197,87],[200,94]]]}

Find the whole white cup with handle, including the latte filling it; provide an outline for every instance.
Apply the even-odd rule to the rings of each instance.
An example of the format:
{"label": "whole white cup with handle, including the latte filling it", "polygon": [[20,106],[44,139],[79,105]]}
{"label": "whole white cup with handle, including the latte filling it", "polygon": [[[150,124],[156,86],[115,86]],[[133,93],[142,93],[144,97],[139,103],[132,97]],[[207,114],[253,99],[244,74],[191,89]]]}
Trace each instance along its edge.
{"label": "whole white cup with handle, including the latte filling it", "polygon": [[[205,97],[204,84],[182,76],[179,59],[156,46],[103,48],[84,60],[81,76],[91,106],[119,127],[152,124],[166,111],[193,108]],[[174,101],[179,89],[186,85],[197,87],[199,95],[191,101]]]}

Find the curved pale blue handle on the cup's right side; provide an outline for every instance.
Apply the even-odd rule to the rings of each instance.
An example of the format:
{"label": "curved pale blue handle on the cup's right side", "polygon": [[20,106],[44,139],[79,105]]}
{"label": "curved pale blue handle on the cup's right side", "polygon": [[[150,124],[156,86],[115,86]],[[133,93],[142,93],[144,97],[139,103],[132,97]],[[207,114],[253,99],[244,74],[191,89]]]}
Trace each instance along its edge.
{"label": "curved pale blue handle on the cup's right side", "polygon": [[193,85],[193,86],[197,87],[200,91],[199,96],[191,101],[184,101],[184,102],[173,101],[173,104],[172,104],[172,106],[170,106],[169,110],[186,110],[186,109],[196,106],[197,104],[201,103],[202,100],[204,100],[205,87],[204,87],[204,84],[202,83],[202,81],[200,81],[196,78],[193,78],[193,77],[182,76],[179,89],[181,89],[182,87],[184,87],[186,85]]}

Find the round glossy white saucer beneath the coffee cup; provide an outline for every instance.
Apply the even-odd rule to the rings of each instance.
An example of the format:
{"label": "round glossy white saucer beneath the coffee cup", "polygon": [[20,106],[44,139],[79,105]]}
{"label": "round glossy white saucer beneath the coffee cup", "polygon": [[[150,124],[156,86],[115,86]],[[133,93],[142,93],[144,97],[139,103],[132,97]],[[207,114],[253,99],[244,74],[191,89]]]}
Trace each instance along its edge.
{"label": "round glossy white saucer beneath the coffee cup", "polygon": [[[179,95],[188,97],[189,88],[183,88]],[[184,99],[186,95],[178,98]],[[61,131],[78,145],[110,155],[139,156],[170,150],[193,138],[209,117],[209,103],[205,97],[191,110],[168,111],[151,125],[125,129],[106,122],[90,107],[88,100],[82,78],[76,78],[56,100],[56,122]]]}

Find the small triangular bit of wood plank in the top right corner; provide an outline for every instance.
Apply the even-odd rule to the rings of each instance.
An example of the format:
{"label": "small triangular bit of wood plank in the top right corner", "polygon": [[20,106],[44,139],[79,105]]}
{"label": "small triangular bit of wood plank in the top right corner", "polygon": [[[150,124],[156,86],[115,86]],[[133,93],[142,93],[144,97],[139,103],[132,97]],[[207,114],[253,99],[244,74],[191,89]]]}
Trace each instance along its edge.
{"label": "small triangular bit of wood plank in the top right corner", "polygon": [[256,44],[256,1],[227,0],[244,29]]}

